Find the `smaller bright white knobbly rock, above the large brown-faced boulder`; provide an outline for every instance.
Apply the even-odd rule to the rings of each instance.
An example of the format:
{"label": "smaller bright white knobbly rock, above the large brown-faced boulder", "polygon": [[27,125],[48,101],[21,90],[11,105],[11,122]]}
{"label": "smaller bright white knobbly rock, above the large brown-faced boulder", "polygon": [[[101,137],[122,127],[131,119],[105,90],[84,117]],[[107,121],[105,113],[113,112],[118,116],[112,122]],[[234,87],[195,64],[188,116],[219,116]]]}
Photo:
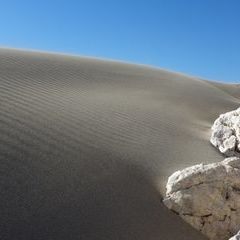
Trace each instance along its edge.
{"label": "smaller bright white knobbly rock, above the large brown-faced boulder", "polygon": [[219,116],[210,141],[224,155],[240,156],[240,108]]}

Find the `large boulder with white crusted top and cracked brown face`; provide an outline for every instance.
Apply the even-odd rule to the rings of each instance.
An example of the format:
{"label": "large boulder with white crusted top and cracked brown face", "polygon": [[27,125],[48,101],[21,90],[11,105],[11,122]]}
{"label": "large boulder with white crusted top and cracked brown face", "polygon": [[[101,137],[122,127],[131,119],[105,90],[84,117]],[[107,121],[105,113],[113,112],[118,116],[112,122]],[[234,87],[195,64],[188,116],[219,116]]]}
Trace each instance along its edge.
{"label": "large boulder with white crusted top and cracked brown face", "polygon": [[164,204],[212,240],[240,228],[240,158],[199,164],[169,177]]}

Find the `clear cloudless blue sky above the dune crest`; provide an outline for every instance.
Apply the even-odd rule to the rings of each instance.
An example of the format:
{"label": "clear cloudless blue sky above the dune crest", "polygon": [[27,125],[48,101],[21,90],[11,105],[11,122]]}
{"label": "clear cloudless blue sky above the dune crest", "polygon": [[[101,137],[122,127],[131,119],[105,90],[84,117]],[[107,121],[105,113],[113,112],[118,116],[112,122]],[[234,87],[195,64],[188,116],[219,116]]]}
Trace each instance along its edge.
{"label": "clear cloudless blue sky above the dune crest", "polygon": [[119,59],[240,83],[240,1],[1,1],[0,46]]}

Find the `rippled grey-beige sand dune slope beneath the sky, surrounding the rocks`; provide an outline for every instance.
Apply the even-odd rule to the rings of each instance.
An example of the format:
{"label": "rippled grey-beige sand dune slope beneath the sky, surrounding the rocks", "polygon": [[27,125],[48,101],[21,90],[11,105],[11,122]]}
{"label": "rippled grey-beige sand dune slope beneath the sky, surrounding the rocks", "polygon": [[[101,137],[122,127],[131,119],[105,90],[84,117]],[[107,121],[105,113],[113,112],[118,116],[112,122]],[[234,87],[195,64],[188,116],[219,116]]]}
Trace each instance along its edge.
{"label": "rippled grey-beige sand dune slope beneath the sky, surrounding the rocks", "polygon": [[161,203],[209,143],[237,85],[126,64],[0,50],[1,240],[205,239]]}

